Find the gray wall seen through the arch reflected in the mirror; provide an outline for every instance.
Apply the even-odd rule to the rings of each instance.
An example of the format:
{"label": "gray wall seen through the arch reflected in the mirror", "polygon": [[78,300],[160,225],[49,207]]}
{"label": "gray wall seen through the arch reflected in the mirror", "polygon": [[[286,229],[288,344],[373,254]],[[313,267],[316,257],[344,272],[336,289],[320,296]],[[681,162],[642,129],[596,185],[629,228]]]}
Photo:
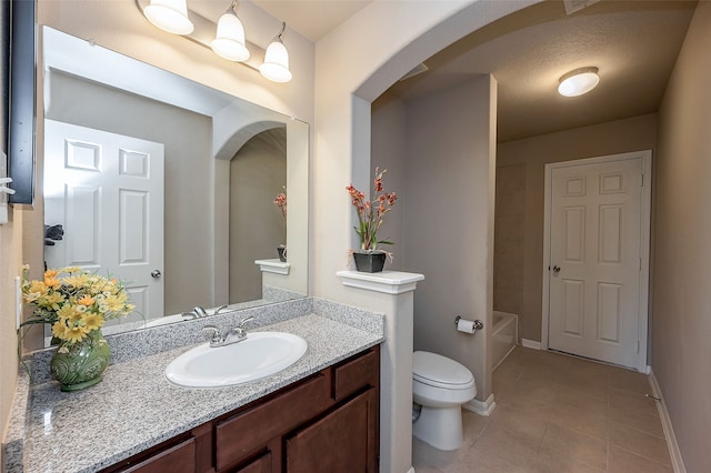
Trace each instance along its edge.
{"label": "gray wall seen through the arch reflected in the mirror", "polygon": [[286,184],[286,128],[254,135],[230,162],[230,304],[262,298],[254,260],[278,258],[277,246],[287,243],[287,227],[273,204]]}

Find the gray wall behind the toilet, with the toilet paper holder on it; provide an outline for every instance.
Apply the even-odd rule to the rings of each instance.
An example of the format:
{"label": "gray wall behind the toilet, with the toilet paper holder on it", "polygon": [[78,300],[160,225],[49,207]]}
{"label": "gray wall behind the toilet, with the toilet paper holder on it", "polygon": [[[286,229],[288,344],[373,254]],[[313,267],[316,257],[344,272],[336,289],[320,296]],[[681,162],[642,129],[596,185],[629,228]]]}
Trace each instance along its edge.
{"label": "gray wall behind the toilet, with the toilet paper holder on it", "polygon": [[[495,89],[483,76],[408,102],[401,168],[402,268],[425,278],[414,293],[414,349],[469,368],[480,401],[491,393]],[[484,331],[457,332],[457,315],[483,320]]]}

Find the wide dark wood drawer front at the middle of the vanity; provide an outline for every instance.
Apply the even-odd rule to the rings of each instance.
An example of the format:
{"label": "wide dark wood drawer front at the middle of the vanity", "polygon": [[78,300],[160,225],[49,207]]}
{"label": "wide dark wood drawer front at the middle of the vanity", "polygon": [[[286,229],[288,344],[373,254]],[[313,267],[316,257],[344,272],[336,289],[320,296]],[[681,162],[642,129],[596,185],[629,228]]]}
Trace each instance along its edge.
{"label": "wide dark wood drawer front at the middle of the vanity", "polygon": [[217,469],[242,460],[269,440],[294,429],[329,406],[328,370],[216,425]]}

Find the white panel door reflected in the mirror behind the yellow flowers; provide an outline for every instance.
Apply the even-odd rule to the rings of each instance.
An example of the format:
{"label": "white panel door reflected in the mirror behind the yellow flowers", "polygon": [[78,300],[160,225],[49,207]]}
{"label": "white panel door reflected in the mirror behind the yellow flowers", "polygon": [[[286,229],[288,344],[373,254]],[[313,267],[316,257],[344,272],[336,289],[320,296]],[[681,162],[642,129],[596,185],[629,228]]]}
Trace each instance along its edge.
{"label": "white panel door reflected in the mirror behind the yellow flowers", "polygon": [[49,268],[81,266],[127,283],[136,313],[163,315],[163,144],[44,121],[44,246]]}

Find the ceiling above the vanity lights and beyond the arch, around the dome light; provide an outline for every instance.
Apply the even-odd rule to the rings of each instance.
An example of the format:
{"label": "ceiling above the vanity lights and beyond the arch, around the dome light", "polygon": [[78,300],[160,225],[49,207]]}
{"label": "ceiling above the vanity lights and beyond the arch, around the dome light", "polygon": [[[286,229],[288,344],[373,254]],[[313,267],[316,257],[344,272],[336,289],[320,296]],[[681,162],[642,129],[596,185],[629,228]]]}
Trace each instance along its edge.
{"label": "ceiling above the vanity lights and beyond the arch, around the dome light", "polygon": [[[507,1],[507,0],[482,0]],[[252,0],[317,41],[370,1]],[[411,100],[491,73],[499,83],[499,141],[655,112],[695,0],[601,0],[565,14],[549,0],[475,31],[425,60],[430,71],[389,91]],[[600,70],[600,84],[579,98],[557,93],[565,72]]]}

